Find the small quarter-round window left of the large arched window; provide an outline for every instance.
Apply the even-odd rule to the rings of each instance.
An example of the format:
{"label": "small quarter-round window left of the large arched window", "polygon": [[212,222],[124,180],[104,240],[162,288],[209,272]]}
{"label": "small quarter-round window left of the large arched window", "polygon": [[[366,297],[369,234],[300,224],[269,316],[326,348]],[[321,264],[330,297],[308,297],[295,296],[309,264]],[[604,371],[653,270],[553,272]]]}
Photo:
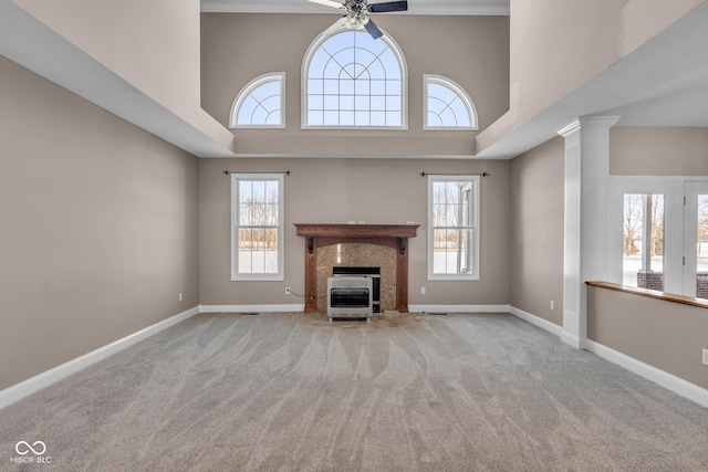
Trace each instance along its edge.
{"label": "small quarter-round window left of the large arched window", "polygon": [[253,78],[238,93],[231,105],[231,128],[285,127],[285,73]]}

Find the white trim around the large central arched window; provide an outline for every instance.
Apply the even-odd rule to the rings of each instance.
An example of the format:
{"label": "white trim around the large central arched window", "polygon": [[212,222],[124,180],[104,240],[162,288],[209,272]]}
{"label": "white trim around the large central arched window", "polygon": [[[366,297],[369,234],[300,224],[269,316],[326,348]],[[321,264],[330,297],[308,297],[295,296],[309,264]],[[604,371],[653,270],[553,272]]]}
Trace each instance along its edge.
{"label": "white trim around the large central arched window", "polygon": [[[381,30],[384,35],[381,36],[377,41],[385,42],[388,48],[394,52],[394,55],[398,59],[398,66],[400,67],[400,126],[315,126],[308,124],[308,69],[310,67],[310,61],[312,61],[312,55],[320,48],[320,45],[330,36],[340,33],[342,31],[351,31],[352,28],[348,25],[342,25],[334,31],[330,29],[323,31],[317,35],[317,38],[310,43],[310,46],[305,51],[305,55],[302,60],[302,67],[300,71],[301,77],[301,107],[300,107],[300,123],[302,129],[358,129],[358,130],[368,130],[368,129],[385,129],[389,132],[395,130],[408,130],[408,64],[406,63],[406,57],[403,55],[403,51],[398,43],[391,38],[384,30]],[[362,27],[364,31],[364,28]]]}

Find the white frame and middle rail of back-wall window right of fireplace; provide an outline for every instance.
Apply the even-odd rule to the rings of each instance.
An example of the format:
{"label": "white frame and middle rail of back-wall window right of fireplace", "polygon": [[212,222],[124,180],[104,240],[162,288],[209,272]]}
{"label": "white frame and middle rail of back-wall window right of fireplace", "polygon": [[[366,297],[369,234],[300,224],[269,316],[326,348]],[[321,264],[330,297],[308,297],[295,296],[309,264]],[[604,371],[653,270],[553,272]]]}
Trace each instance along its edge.
{"label": "white frame and middle rail of back-wall window right of fireplace", "polygon": [[[434,185],[440,181],[457,181],[471,185],[469,202],[470,221],[468,225],[457,227],[436,227],[434,224]],[[480,182],[481,176],[479,175],[428,175],[428,241],[427,241],[427,265],[428,265],[428,281],[479,281],[480,280]],[[466,228],[471,231],[472,247],[471,247],[471,271],[467,273],[444,274],[435,272],[434,256],[435,256],[435,230],[439,228]],[[458,250],[459,252],[459,250]]]}

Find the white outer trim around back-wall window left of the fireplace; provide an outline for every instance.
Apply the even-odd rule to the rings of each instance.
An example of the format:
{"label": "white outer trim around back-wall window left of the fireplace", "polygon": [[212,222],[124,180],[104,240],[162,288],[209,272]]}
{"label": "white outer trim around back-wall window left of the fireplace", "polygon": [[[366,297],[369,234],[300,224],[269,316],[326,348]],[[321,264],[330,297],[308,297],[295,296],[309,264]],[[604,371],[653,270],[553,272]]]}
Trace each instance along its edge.
{"label": "white outer trim around back-wall window left of the fireplace", "polygon": [[[238,251],[238,181],[249,179],[269,179],[279,181],[278,201],[278,273],[241,274],[239,273]],[[231,174],[231,281],[283,281],[284,280],[284,225],[285,225],[285,179],[283,174]]]}

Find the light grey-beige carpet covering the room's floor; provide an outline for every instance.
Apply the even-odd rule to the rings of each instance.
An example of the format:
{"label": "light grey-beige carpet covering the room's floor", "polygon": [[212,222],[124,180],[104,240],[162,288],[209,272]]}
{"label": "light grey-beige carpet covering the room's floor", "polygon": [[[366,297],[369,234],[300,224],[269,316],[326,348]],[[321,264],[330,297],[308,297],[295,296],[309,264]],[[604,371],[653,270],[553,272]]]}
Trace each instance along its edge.
{"label": "light grey-beige carpet covering the room's floor", "polygon": [[706,471],[708,410],[510,315],[201,314],[0,410],[25,468]]}

